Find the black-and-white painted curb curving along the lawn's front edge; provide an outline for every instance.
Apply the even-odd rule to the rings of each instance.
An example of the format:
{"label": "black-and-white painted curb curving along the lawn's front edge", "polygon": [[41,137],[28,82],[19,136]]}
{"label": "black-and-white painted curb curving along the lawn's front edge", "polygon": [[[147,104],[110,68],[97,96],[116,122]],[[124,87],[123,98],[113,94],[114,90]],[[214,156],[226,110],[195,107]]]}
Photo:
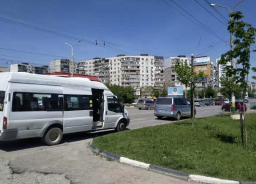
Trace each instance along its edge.
{"label": "black-and-white painted curb curving along the lawn's front edge", "polygon": [[186,174],[180,171],[167,169],[164,167],[159,167],[151,164],[147,164],[144,162],[132,160],[125,157],[120,157],[118,155],[114,155],[112,153],[108,153],[106,151],[100,151],[98,148],[92,145],[92,141],[89,144],[89,148],[97,155],[101,155],[105,158],[123,163],[132,165],[135,167],[140,167],[149,171],[153,171],[156,173],[165,174],[167,176],[172,176],[178,179],[183,179],[189,182],[198,182],[198,183],[204,183],[204,184],[256,184],[256,182],[239,182],[239,181],[233,181],[233,180],[226,180],[226,179],[219,179],[219,178],[213,178],[208,176],[201,176],[201,175],[194,175],[194,174]]}

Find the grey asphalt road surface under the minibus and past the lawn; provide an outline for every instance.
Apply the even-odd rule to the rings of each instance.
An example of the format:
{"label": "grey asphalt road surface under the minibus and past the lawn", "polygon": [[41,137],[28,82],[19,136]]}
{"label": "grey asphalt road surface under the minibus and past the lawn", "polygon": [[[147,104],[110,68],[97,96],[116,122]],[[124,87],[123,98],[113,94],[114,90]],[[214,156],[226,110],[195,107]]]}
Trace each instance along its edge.
{"label": "grey asphalt road surface under the minibus and past the lawn", "polygon": [[[196,109],[196,118],[223,113],[221,106]],[[129,129],[175,122],[156,119],[154,110],[127,110],[131,117]],[[92,138],[113,132],[68,134],[57,146],[45,146],[37,138],[0,142],[0,183],[188,183],[94,155],[88,147]]]}

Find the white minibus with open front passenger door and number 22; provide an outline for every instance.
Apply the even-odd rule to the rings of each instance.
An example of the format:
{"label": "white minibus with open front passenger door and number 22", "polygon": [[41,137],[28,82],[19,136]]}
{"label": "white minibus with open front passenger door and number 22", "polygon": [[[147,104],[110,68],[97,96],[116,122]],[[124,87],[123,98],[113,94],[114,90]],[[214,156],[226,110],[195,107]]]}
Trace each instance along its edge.
{"label": "white minibus with open front passenger door and number 22", "polygon": [[0,73],[0,140],[40,137],[60,143],[66,133],[125,130],[130,117],[101,82],[23,72]]}

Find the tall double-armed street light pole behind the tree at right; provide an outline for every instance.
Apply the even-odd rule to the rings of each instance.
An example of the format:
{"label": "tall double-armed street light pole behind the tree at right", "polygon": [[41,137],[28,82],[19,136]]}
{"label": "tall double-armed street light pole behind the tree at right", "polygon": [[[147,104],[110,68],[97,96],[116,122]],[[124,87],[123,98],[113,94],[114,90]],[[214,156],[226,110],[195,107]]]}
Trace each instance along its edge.
{"label": "tall double-armed street light pole behind the tree at right", "polygon": [[[221,8],[226,8],[228,11],[229,11],[229,14],[231,14],[233,11],[234,11],[234,8],[239,5],[241,2],[243,2],[244,0],[241,0],[239,1],[238,3],[236,3],[233,8],[230,10],[228,7],[226,6],[222,6],[222,5],[215,5],[215,4],[211,4],[212,7],[214,6],[217,6],[217,7],[221,7]],[[233,18],[229,17],[229,21],[231,21]],[[233,51],[233,34],[230,32],[230,51]],[[235,61],[234,61],[234,58],[232,58],[232,55],[231,55],[231,66],[233,68],[235,68]],[[235,95],[234,93],[232,93],[231,95],[231,101],[232,101],[232,106],[231,106],[231,111],[232,113],[235,113],[236,112],[236,108],[235,108]]]}

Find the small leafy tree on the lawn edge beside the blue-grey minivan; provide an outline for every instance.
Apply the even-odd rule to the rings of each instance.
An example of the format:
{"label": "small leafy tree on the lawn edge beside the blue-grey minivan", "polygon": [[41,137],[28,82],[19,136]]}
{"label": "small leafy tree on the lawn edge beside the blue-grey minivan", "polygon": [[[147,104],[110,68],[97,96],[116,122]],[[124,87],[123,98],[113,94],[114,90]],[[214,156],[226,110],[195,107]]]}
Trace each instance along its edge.
{"label": "small leafy tree on the lawn edge beside the blue-grey minivan", "polygon": [[192,71],[191,67],[188,65],[188,63],[182,63],[180,62],[176,63],[176,66],[174,68],[174,71],[178,75],[178,80],[185,84],[185,86],[192,86],[192,97],[191,97],[191,111],[192,111],[192,126],[195,124],[195,106],[194,106],[194,101],[195,101],[195,84],[197,82],[200,82],[200,80],[204,77],[204,73],[202,71],[199,71],[198,73],[195,73]]}

